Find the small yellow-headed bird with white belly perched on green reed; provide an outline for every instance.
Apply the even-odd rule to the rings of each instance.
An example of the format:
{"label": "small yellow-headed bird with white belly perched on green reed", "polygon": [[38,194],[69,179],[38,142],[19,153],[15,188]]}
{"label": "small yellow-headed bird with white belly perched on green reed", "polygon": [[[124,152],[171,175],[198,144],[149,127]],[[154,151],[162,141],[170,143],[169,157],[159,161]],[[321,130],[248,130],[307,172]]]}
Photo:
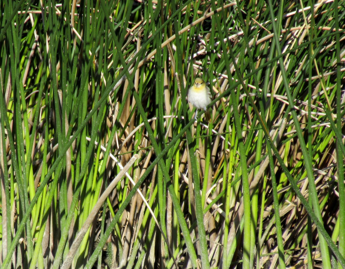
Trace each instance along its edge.
{"label": "small yellow-headed bird with white belly perched on green reed", "polygon": [[[206,86],[206,82],[197,77],[194,81],[194,84],[188,90],[188,102],[195,106],[198,109],[206,110],[206,106],[211,103],[212,95],[209,87]],[[209,115],[210,116],[210,115]],[[195,119],[197,117],[197,111],[195,112]]]}

